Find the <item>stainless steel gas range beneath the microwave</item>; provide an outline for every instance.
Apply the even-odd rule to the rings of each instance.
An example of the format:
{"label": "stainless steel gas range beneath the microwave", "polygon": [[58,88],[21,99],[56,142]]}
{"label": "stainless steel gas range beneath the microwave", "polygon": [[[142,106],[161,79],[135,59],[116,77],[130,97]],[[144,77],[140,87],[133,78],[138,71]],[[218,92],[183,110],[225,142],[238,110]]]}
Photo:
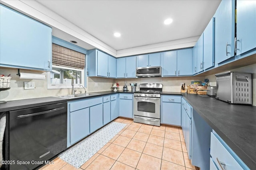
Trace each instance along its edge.
{"label": "stainless steel gas range beneath the microwave", "polygon": [[160,94],[162,84],[140,84],[140,91],[134,92],[134,122],[160,126]]}

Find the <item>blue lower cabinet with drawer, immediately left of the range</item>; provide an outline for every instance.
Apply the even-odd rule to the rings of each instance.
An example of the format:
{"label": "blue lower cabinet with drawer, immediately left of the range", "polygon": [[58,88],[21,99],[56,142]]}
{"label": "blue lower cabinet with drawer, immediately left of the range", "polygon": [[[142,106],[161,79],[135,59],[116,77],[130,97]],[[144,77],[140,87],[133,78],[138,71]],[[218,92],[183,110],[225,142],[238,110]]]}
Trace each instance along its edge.
{"label": "blue lower cabinet with drawer, immediately left of the range", "polygon": [[119,95],[119,114],[122,117],[133,117],[133,95],[120,94]]}

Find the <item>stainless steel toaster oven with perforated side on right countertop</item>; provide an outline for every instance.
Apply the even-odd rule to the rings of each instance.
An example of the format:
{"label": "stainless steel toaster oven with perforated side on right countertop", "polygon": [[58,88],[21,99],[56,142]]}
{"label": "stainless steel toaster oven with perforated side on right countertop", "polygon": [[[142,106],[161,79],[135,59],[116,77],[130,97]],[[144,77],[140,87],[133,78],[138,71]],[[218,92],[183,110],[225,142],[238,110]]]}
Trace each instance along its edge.
{"label": "stainless steel toaster oven with perforated side on right countertop", "polygon": [[229,71],[215,76],[217,99],[230,104],[252,104],[252,73]]}

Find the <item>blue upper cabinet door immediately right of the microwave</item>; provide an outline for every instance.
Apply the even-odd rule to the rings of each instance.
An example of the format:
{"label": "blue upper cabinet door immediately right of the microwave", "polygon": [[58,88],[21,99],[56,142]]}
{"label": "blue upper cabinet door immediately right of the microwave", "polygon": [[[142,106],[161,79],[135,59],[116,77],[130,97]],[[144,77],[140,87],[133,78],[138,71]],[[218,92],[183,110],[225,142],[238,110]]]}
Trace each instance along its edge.
{"label": "blue upper cabinet door immediately right of the microwave", "polygon": [[163,53],[162,76],[176,76],[177,51]]}

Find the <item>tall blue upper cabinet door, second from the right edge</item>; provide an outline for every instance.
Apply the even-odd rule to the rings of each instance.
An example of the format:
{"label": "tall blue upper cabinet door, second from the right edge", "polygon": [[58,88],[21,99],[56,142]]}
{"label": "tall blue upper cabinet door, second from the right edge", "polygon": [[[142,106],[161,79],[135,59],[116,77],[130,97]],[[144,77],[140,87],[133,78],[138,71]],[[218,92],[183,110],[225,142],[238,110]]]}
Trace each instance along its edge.
{"label": "tall blue upper cabinet door, second from the right edge", "polygon": [[218,9],[216,10],[216,13],[214,14],[215,65],[234,56],[234,10],[234,0],[222,0]]}

